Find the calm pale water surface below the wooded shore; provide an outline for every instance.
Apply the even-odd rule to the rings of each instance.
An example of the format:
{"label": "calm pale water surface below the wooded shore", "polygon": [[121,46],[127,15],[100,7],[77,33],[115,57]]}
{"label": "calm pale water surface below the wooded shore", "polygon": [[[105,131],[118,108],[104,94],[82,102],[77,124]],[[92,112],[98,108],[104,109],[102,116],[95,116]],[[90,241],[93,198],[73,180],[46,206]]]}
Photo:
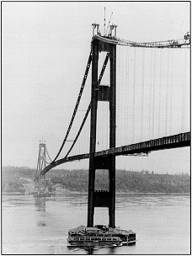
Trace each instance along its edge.
{"label": "calm pale water surface below the wooded shore", "polygon": [[[67,231],[87,223],[87,195],[35,199],[3,195],[4,254],[189,254],[189,195],[117,195],[116,226],[136,232],[136,245],[68,248]],[[108,225],[108,211],[95,208],[95,224]]]}

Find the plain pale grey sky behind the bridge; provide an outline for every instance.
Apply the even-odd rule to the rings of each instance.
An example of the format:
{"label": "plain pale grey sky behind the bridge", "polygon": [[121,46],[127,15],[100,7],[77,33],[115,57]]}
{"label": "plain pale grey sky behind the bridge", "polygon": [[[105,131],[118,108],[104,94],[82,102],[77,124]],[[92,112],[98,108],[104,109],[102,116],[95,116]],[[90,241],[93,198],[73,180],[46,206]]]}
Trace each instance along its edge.
{"label": "plain pale grey sky behind the bridge", "polygon": [[[3,165],[35,168],[42,139],[51,157],[56,156],[83,81],[92,24],[100,24],[104,32],[104,7],[106,24],[113,12],[111,23],[118,25],[117,36],[122,39],[173,40],[189,31],[189,2],[3,2],[2,6]],[[109,68],[102,83],[109,83]],[[87,109],[90,87],[91,74],[69,140]],[[117,103],[117,147],[189,131],[189,50],[117,46]],[[99,103],[97,150],[109,145],[108,108],[108,103]],[[88,152],[89,125],[88,119],[72,154]],[[148,157],[116,157],[116,168],[127,170],[189,173],[189,166],[189,147]],[[88,160],[57,168],[88,168]]]}

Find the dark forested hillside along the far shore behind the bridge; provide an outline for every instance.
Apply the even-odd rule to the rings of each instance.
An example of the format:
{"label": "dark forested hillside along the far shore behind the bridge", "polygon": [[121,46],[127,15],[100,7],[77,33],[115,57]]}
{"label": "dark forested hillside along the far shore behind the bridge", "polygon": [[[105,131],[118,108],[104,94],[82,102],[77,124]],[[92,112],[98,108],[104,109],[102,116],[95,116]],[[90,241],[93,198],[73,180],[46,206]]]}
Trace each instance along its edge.
{"label": "dark forested hillside along the far shore behind the bridge", "polygon": [[[95,189],[109,189],[108,171],[99,170],[95,175]],[[3,167],[2,189],[5,192],[29,192],[34,189],[35,169]],[[63,191],[88,191],[88,170],[51,170],[46,174],[48,189]],[[30,186],[29,186],[30,184]],[[146,170],[141,172],[117,170],[116,191],[136,193],[189,193],[190,176],[188,174],[156,174]]]}

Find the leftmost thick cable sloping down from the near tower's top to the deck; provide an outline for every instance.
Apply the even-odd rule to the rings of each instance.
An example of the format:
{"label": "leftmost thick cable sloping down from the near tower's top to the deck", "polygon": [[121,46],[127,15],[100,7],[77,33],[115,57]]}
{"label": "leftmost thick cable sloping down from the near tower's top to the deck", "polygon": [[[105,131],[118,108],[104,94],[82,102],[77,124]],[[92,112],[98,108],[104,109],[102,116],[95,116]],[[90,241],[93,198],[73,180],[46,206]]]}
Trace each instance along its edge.
{"label": "leftmost thick cable sloping down from the near tower's top to the deck", "polygon": [[86,67],[86,71],[85,71],[85,74],[84,74],[84,77],[83,77],[83,83],[82,83],[82,86],[81,86],[81,88],[80,88],[80,92],[78,93],[77,103],[76,103],[75,109],[73,110],[72,119],[71,119],[70,124],[69,124],[69,126],[68,126],[66,136],[65,136],[64,140],[62,141],[61,148],[60,148],[59,152],[57,153],[55,159],[52,161],[52,163],[56,161],[57,157],[59,157],[59,155],[60,155],[60,153],[61,153],[61,150],[62,150],[62,148],[64,147],[64,145],[65,145],[65,143],[66,143],[66,141],[67,141],[67,137],[68,137],[68,135],[69,135],[69,132],[70,132],[71,129],[72,129],[72,123],[73,123],[73,121],[74,121],[74,119],[75,119],[75,115],[76,115],[76,113],[77,113],[78,105],[79,105],[80,100],[81,100],[81,97],[82,97],[83,88],[84,88],[84,86],[85,86],[85,82],[86,82],[87,77],[88,77],[88,71],[89,71],[89,67],[90,67],[90,65],[91,65],[91,61],[92,61],[92,50],[91,50],[90,55],[89,55],[89,57],[88,57],[88,65],[87,65],[87,67]]}

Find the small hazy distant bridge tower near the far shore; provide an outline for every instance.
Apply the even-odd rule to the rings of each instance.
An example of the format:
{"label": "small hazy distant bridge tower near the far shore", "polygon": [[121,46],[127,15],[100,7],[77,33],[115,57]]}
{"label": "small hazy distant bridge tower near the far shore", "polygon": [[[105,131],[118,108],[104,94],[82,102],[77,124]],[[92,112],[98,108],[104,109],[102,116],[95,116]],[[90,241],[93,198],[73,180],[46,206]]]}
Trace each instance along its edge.
{"label": "small hazy distant bridge tower near the far shore", "polygon": [[37,189],[37,193],[40,195],[41,186],[43,185],[43,191],[45,193],[45,174],[40,174],[40,172],[46,166],[46,144],[40,141],[39,147],[39,156],[37,162],[37,170],[35,174],[35,190]]}

